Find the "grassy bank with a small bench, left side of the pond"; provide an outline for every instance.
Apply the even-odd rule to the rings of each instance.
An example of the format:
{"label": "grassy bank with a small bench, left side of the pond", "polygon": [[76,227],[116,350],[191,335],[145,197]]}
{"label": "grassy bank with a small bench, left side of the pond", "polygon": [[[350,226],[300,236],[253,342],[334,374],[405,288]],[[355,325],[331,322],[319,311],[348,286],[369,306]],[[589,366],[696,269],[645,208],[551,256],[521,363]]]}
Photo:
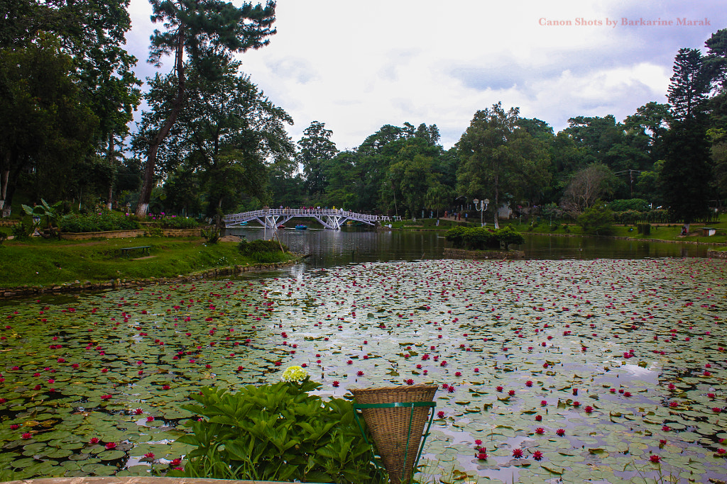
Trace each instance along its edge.
{"label": "grassy bank with a small bench, left side of the pond", "polygon": [[[149,256],[121,256],[122,247],[149,245]],[[266,254],[268,255],[268,254]],[[268,255],[269,256],[269,255]],[[102,241],[32,239],[0,245],[0,287],[52,286],[68,282],[108,282],[111,279],[177,277],[205,269],[252,266],[291,260],[278,253],[274,258],[245,257],[235,242],[206,245],[204,239],[143,237]]]}

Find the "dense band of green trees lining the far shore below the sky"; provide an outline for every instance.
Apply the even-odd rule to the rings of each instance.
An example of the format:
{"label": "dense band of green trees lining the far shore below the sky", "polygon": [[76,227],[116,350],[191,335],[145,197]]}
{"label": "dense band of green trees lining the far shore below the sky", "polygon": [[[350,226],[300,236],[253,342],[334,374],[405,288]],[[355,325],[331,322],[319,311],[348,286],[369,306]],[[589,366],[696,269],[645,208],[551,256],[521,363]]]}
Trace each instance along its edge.
{"label": "dense band of green trees lining the far shore below the sky", "polygon": [[727,196],[727,29],[704,52],[679,50],[668,104],[622,121],[575,116],[555,133],[498,102],[451,149],[435,124],[406,122],[340,151],[318,120],[290,139],[292,118],[234,60],[276,33],[273,1],[150,1],[164,28],[149,62],[172,65],[148,79],[129,134],[142,94],[124,50],[128,1],[0,0],[0,208],[18,189],[206,217],[261,205],[441,216],[474,199],[490,201],[489,217],[505,206],[578,216],[640,199],[689,223]]}

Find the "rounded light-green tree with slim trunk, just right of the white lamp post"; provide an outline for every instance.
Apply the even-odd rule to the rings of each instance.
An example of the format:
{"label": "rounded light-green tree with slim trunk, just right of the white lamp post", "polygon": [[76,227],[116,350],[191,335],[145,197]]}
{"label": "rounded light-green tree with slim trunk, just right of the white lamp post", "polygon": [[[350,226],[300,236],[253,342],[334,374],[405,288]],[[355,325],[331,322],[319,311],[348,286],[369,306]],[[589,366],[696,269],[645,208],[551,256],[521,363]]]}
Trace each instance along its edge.
{"label": "rounded light-green tree with slim trunk, just right of the white lamp post", "polygon": [[520,197],[547,186],[550,157],[547,145],[518,128],[519,109],[502,109],[502,103],[475,112],[470,126],[457,142],[462,165],[457,171],[457,189],[470,198],[493,201],[495,228],[497,211],[507,197]]}

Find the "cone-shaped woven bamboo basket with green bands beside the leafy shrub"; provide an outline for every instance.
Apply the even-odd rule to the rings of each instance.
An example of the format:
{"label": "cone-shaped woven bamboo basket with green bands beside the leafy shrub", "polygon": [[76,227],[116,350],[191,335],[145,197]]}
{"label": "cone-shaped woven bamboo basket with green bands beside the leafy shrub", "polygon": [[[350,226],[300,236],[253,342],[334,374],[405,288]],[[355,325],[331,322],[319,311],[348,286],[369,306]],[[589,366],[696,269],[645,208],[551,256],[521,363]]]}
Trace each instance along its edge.
{"label": "cone-shaped woven bamboo basket with green bands beside the leafy shrub", "polygon": [[[351,390],[356,403],[431,402],[436,385],[403,385],[400,387],[361,388]],[[419,459],[419,444],[425,425],[430,422],[430,406],[397,406],[361,409],[366,426],[374,438],[382,464],[393,484],[408,483]],[[407,445],[408,443],[408,445]],[[404,462],[406,456],[406,462]]]}

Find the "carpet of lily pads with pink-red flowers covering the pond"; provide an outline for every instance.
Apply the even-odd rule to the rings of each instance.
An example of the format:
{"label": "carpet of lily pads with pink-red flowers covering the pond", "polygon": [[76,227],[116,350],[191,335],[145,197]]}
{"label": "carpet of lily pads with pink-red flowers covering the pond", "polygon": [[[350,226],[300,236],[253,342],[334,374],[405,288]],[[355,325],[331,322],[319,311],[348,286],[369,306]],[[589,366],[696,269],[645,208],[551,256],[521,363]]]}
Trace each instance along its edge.
{"label": "carpet of lily pads with pink-red flowers covering the pond", "polygon": [[483,478],[706,483],[727,464],[726,276],[696,259],[365,263],[6,303],[0,468],[183,467],[189,395],[305,372],[337,396],[438,385],[423,459]]}

